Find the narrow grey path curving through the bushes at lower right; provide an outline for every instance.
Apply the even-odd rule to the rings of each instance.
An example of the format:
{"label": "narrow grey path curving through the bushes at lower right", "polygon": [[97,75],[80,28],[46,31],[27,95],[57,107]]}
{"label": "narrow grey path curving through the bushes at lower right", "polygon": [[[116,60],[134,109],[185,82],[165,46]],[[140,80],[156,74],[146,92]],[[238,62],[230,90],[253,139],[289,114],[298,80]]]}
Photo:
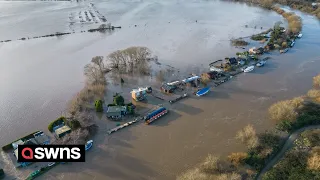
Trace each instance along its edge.
{"label": "narrow grey path curving through the bushes at lower right", "polygon": [[261,170],[261,172],[257,176],[257,180],[262,179],[262,176],[269,170],[271,169],[274,165],[276,165],[281,158],[285,155],[288,149],[290,149],[294,143],[294,141],[299,137],[301,133],[307,130],[312,130],[312,129],[320,129],[320,125],[313,125],[313,126],[307,126],[303,127],[301,129],[296,130],[290,136],[288,137],[286,143],[283,145],[281,151],[271,160],[269,163]]}

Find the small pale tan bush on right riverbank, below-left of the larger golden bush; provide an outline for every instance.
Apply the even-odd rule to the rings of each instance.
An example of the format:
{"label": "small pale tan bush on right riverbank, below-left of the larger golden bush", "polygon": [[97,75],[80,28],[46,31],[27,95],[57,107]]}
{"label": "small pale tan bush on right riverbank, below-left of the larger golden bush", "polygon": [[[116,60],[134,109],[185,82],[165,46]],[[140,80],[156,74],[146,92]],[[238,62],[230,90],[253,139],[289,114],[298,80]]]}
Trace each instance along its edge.
{"label": "small pale tan bush on right riverbank, below-left of the larger golden bush", "polygon": [[236,135],[236,139],[239,139],[248,148],[254,148],[258,145],[258,137],[256,135],[255,129],[251,124],[240,130]]}

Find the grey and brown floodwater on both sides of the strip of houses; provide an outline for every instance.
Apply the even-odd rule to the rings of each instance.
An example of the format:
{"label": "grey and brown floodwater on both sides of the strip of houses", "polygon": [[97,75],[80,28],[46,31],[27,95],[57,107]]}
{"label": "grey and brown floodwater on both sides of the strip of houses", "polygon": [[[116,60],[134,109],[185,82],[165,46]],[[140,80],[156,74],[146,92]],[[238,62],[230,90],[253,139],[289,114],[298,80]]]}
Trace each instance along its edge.
{"label": "grey and brown floodwater on both sides of the strip of houses", "polygon": [[[22,2],[0,3],[1,27],[14,29],[1,28],[1,39],[43,35],[52,33],[50,29],[68,31],[70,14],[86,11],[89,4],[19,3]],[[282,20],[273,12],[221,1],[93,3],[108,22],[123,28],[111,35],[74,34],[0,44],[1,145],[29,132],[45,130],[82,88],[83,66],[92,56],[129,46],[147,46],[160,62],[190,72],[240,51],[230,47],[232,37],[249,36],[261,31],[260,27],[265,30]],[[12,8],[6,10],[11,21],[4,18],[9,15],[2,11],[8,7]],[[57,22],[57,27],[46,17]],[[19,23],[21,18],[28,19],[28,28]],[[172,105],[170,115],[151,126],[139,124],[107,136],[106,123],[99,121],[100,131],[87,162],[58,166],[42,178],[174,179],[208,153],[226,155],[243,150],[234,140],[236,131],[248,123],[259,132],[272,127],[266,117],[268,106],[304,94],[311,88],[312,76],[319,71],[319,21],[303,14],[302,18],[304,36],[287,54],[275,52],[264,68],[242,74],[208,96]],[[49,27],[42,29],[40,26],[46,23]],[[76,22],[72,26],[78,31],[94,25]]]}

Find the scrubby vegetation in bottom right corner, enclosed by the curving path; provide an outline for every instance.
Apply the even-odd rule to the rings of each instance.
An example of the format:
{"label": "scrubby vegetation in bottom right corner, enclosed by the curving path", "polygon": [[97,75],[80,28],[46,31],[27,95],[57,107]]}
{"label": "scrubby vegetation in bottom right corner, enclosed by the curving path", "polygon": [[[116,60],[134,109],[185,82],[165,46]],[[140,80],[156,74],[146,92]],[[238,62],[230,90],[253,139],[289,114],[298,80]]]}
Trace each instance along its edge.
{"label": "scrubby vegetation in bottom right corner, enclosed by the curving path", "polygon": [[303,132],[294,147],[262,177],[263,180],[319,178],[320,129]]}

